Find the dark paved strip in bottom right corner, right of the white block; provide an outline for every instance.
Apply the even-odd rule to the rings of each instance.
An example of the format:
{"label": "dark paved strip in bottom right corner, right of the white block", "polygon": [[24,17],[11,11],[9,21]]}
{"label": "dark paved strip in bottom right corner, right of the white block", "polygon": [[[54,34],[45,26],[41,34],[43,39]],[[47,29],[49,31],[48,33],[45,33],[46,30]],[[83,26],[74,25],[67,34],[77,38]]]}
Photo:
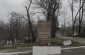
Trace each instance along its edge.
{"label": "dark paved strip in bottom right corner, right of the white block", "polygon": [[59,55],[85,55],[85,48],[62,50],[62,53]]}

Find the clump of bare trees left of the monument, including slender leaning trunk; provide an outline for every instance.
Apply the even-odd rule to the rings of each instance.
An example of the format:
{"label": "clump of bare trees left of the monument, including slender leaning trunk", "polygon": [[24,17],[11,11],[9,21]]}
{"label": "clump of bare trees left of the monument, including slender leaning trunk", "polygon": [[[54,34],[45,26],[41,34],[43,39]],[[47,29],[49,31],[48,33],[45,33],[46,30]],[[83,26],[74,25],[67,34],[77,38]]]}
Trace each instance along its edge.
{"label": "clump of bare trees left of the monument, including slender leaning trunk", "polygon": [[25,6],[26,16],[17,13],[16,11],[11,12],[9,15],[9,21],[6,24],[4,24],[4,22],[0,23],[0,31],[4,31],[7,34],[5,38],[7,37],[7,40],[11,40],[12,44],[14,44],[15,40],[23,41],[26,37],[28,37],[27,39],[31,42],[35,41],[35,25],[33,25],[34,21],[31,20],[29,13],[31,3],[32,0],[29,1],[29,5]]}

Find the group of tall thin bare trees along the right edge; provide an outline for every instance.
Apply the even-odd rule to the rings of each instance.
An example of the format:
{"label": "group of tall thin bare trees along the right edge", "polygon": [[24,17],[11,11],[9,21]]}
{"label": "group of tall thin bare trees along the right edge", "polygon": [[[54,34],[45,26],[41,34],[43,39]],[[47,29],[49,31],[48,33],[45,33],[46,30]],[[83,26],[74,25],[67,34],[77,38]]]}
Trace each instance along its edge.
{"label": "group of tall thin bare trees along the right edge", "polygon": [[[79,3],[79,8],[78,8],[76,15],[74,16],[75,2]],[[83,13],[84,13],[84,11],[83,11],[84,4],[85,4],[84,0],[71,0],[70,8],[71,8],[71,12],[72,12],[72,29],[73,29],[72,34],[74,34],[74,32],[75,32],[75,23],[78,18],[78,20],[79,20],[78,34],[81,35],[81,25],[82,25]]]}

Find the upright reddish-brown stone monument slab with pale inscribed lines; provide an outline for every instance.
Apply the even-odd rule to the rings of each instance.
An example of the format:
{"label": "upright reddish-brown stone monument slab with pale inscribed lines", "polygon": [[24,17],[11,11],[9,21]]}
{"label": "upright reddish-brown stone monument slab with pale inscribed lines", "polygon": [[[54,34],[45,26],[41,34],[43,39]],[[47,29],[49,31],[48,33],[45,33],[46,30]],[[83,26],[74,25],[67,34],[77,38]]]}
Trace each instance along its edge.
{"label": "upright reddish-brown stone monument slab with pale inscribed lines", "polygon": [[42,45],[51,44],[51,22],[50,21],[38,22],[37,42]]}

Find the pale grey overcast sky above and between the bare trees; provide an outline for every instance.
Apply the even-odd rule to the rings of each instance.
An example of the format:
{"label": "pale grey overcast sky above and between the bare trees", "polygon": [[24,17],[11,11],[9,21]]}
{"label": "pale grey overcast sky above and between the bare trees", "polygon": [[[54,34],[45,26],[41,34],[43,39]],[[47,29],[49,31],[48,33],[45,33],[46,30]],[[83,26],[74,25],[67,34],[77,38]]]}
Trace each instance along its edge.
{"label": "pale grey overcast sky above and between the bare trees", "polygon": [[[0,20],[7,22],[9,13],[12,11],[25,14],[24,6],[27,3],[26,1],[27,0],[0,0]],[[70,9],[68,8],[68,1],[63,0],[62,5],[63,5],[62,7],[63,8],[65,7],[66,11],[68,11],[70,15],[71,13],[69,12]],[[31,12],[32,11],[33,9],[31,10]],[[63,19],[61,18],[60,20],[63,20]]]}

